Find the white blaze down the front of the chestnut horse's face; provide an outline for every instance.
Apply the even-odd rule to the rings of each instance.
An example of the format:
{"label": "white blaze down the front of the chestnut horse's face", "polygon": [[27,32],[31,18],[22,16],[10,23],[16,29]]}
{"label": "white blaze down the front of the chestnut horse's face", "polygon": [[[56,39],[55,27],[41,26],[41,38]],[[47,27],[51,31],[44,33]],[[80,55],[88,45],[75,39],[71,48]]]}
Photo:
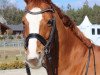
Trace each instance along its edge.
{"label": "white blaze down the front of the chestnut horse's face", "polygon": [[[31,12],[38,12],[38,11],[41,11],[41,9],[40,8],[33,8],[30,11]],[[40,21],[42,20],[42,14],[33,15],[33,14],[30,14],[30,13],[27,13],[26,19],[29,23],[29,33],[39,34],[39,27],[40,27]],[[39,57],[38,54],[36,53],[36,48],[37,48],[37,39],[36,38],[29,39],[29,42],[28,42],[28,50],[29,50],[28,59],[34,59],[34,58]]]}

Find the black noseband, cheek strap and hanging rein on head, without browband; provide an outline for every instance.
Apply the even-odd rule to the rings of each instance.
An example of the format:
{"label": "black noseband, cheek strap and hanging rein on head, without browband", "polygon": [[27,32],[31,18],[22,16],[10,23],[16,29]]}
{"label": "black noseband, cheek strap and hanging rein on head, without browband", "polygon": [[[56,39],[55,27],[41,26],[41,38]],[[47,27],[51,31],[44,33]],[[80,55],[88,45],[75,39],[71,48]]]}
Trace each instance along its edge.
{"label": "black noseband, cheek strap and hanging rein on head, without browband", "polygon": [[[28,37],[25,39],[25,48],[26,49],[28,47],[29,39],[31,39],[31,38],[38,39],[45,46],[44,52],[45,52],[45,56],[48,59],[50,66],[51,66],[52,75],[54,75],[54,66],[52,64],[52,57],[51,57],[51,54],[50,54],[50,49],[51,49],[51,44],[54,40],[55,30],[56,30],[56,20],[55,20],[55,18],[53,18],[52,19],[52,29],[51,29],[48,41],[46,41],[41,35],[36,34],[36,33],[29,34]],[[29,68],[27,63],[26,63],[26,72],[27,72],[28,75],[31,75],[30,68]]]}

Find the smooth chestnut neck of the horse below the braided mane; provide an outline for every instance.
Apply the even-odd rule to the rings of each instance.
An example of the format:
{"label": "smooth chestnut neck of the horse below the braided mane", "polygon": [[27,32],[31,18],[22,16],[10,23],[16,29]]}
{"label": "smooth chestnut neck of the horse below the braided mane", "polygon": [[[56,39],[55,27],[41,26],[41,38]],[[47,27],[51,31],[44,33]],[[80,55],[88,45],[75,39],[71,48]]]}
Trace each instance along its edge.
{"label": "smooth chestnut neck of the horse below the braided mane", "polygon": [[[82,60],[85,53],[87,53],[87,47],[81,42],[70,28],[66,28],[61,20],[57,20],[57,31],[59,41],[59,67],[58,70],[67,69],[69,65],[76,66],[78,63],[85,62]],[[80,60],[80,62],[78,62]],[[75,64],[73,64],[75,62]],[[64,65],[64,63],[66,65]],[[84,64],[82,65],[82,67]]]}

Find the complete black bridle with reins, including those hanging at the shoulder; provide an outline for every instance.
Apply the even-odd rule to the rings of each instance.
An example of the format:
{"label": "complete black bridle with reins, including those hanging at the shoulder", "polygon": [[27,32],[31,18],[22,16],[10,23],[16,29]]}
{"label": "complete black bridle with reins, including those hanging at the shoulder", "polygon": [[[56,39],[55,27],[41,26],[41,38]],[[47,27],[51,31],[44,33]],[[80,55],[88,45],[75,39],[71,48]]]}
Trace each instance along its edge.
{"label": "complete black bridle with reins, including those hanging at the shoulder", "polygon": [[[45,13],[45,12],[53,12],[54,13],[54,9],[52,8],[48,8],[48,9],[43,9],[42,11],[39,11],[39,12],[31,12],[27,9],[25,9],[25,12],[26,13],[29,13],[29,14],[32,14],[32,15],[38,15],[38,14],[42,14],[42,13]],[[28,42],[29,42],[29,39],[31,38],[36,38],[38,39],[43,45],[44,45],[44,52],[45,52],[45,56],[46,56],[46,59],[48,60],[50,66],[51,66],[51,72],[52,74],[51,75],[55,75],[55,72],[54,72],[54,66],[52,64],[52,57],[51,57],[51,54],[50,54],[50,50],[51,50],[51,44],[54,40],[54,36],[55,36],[55,30],[56,30],[56,20],[55,18],[52,19],[52,30],[51,30],[51,33],[50,33],[50,38],[48,41],[46,41],[44,39],[44,37],[42,37],[41,35],[37,34],[37,33],[31,33],[27,36],[27,38],[25,39],[25,49],[27,49],[28,47]],[[86,44],[85,44],[86,45]],[[87,46],[87,45],[86,45]],[[87,46],[88,47],[88,46]],[[89,52],[88,52],[88,60],[87,60],[87,64],[86,64],[86,72],[85,72],[85,75],[88,75],[88,69],[89,69],[89,64],[90,64],[90,56],[91,56],[91,50],[92,50],[92,53],[93,53],[93,57],[94,57],[94,75],[96,75],[96,62],[95,62],[95,54],[94,54],[94,51],[93,51],[93,47],[88,47],[89,49]],[[26,66],[26,72],[27,72],[27,75],[31,75],[31,72],[30,72],[30,67],[28,66],[27,63],[25,63],[25,66]],[[47,70],[48,71],[48,70]]]}

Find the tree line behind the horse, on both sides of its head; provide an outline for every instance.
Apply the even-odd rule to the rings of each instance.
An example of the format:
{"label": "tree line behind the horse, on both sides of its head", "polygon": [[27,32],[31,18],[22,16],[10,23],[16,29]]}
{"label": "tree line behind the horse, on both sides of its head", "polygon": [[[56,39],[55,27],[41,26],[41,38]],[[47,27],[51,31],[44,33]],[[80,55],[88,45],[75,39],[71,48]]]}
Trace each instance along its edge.
{"label": "tree line behind the horse, on both sides of its head", "polygon": [[[66,15],[72,18],[79,25],[85,15],[87,15],[92,24],[100,24],[100,6],[94,5],[89,7],[88,1],[84,3],[82,8],[73,9],[70,4],[67,5],[67,10],[61,9]],[[0,0],[0,14],[7,20],[8,24],[22,23],[24,10],[20,10],[16,5],[9,3],[9,0]]]}

